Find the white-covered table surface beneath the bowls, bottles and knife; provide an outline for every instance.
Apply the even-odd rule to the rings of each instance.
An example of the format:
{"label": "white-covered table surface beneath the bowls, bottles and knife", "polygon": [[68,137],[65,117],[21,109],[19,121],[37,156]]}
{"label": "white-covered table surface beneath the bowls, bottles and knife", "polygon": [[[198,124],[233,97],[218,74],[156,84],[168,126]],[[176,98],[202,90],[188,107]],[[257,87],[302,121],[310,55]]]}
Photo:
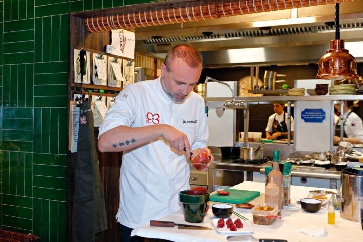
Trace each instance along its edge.
{"label": "white-covered table surface beneath the bowls, bottles and knife", "polygon": [[[264,183],[257,183],[253,181],[244,181],[232,189],[260,191],[261,195],[249,203],[258,204],[263,203],[264,198]],[[256,238],[274,238],[286,239],[288,241],[298,242],[311,242],[311,241],[363,241],[363,230],[359,222],[346,220],[340,217],[339,210],[335,210],[335,224],[329,225],[327,222],[327,208],[322,208],[317,213],[307,213],[301,210],[300,205],[296,201],[306,197],[310,190],[330,190],[313,187],[291,186],[291,204],[284,206],[282,209],[282,219],[271,229],[256,228],[251,224],[254,231],[253,236]],[[330,190],[333,191],[334,190]],[[210,202],[210,206],[211,206]],[[209,209],[203,223],[194,225],[212,227],[210,221],[214,217],[212,209]],[[250,209],[234,208],[234,211],[247,217],[252,221],[252,214]],[[235,215],[233,215],[235,216]],[[158,218],[158,220],[174,221],[175,223],[189,224],[184,221],[183,213],[181,210],[170,214],[168,216]],[[328,235],[323,238],[312,237],[307,234],[298,232],[300,228],[308,225],[316,225],[325,227]],[[191,242],[191,241],[227,241],[227,235],[218,234],[215,230],[179,230],[175,228],[164,227],[150,227],[145,225],[132,231],[132,235],[138,235],[144,238],[159,238],[170,241]]]}

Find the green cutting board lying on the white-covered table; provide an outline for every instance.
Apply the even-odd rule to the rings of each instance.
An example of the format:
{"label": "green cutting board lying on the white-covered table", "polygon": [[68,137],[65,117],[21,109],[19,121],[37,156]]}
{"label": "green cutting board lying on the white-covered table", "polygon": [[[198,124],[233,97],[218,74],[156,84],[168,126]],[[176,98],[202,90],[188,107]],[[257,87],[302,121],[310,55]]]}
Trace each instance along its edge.
{"label": "green cutting board lying on the white-covered table", "polygon": [[223,202],[223,203],[247,203],[252,199],[260,196],[259,191],[247,191],[239,189],[224,189],[223,191],[228,191],[228,195],[220,195],[215,193],[210,196],[210,201]]}

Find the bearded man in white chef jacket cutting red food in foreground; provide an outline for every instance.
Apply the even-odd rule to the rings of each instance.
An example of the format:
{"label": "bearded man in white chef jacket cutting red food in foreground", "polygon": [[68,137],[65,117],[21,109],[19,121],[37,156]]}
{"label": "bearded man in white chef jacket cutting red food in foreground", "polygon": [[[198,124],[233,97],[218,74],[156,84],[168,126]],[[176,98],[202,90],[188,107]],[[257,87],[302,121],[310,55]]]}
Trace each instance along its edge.
{"label": "bearded man in white chef jacket cutting red food in foreground", "polygon": [[[130,84],[116,97],[100,126],[101,152],[123,151],[116,215],[121,241],[134,228],[180,209],[178,192],[188,189],[190,151],[206,151],[208,127],[203,98],[191,92],[202,60],[186,45],[172,48],[155,80]],[[183,151],[183,148],[186,151]]]}

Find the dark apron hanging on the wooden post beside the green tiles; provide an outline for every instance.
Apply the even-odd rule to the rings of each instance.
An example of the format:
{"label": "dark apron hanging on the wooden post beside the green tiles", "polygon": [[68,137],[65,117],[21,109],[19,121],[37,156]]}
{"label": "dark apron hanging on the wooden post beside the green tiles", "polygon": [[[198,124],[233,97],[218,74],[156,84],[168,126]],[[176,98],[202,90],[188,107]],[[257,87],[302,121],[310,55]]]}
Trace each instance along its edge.
{"label": "dark apron hanging on the wooden post beside the green tiles", "polygon": [[72,242],[95,241],[107,229],[105,200],[96,153],[91,102],[80,104],[72,203]]}

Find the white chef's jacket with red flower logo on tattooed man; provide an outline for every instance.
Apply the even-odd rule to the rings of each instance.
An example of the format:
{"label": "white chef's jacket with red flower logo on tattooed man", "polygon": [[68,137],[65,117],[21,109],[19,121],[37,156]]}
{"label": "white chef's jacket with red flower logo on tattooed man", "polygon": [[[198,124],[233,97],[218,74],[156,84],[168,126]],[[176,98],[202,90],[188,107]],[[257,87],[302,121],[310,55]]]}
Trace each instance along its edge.
{"label": "white chef's jacket with red flower logo on tattooed man", "polygon": [[[159,77],[125,86],[107,111],[99,135],[120,125],[169,124],[187,135],[193,150],[207,146],[206,118],[200,95],[191,92],[183,103],[174,103]],[[134,141],[119,140],[119,145],[127,142]],[[189,172],[185,152],[175,151],[161,137],[123,152],[117,221],[137,228],[179,210],[178,192],[189,188]]]}

